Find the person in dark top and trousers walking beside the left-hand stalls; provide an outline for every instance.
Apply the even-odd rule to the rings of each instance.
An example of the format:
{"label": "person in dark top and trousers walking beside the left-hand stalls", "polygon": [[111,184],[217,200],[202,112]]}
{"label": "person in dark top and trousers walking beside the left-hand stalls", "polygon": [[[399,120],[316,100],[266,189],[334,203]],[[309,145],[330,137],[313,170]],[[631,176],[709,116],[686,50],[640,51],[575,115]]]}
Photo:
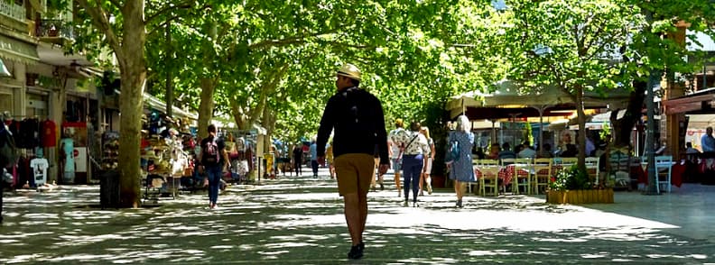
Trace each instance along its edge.
{"label": "person in dark top and trousers walking beside the left-hand stalls", "polygon": [[218,206],[218,187],[223,171],[228,171],[228,153],[223,139],[216,136],[216,126],[210,124],[209,136],[201,140],[200,170],[209,178],[209,208]]}

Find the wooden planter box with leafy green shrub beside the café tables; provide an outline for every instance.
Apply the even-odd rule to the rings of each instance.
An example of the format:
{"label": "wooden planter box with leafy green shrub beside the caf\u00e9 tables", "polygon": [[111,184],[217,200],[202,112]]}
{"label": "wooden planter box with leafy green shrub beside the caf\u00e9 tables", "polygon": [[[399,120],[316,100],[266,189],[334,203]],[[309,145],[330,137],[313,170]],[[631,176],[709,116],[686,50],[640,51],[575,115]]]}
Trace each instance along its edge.
{"label": "wooden planter box with leafy green shrub beside the caf\u00e9 tables", "polygon": [[546,202],[571,205],[612,204],[613,187],[592,182],[588,172],[574,165],[570,169],[559,171],[552,178],[546,191]]}

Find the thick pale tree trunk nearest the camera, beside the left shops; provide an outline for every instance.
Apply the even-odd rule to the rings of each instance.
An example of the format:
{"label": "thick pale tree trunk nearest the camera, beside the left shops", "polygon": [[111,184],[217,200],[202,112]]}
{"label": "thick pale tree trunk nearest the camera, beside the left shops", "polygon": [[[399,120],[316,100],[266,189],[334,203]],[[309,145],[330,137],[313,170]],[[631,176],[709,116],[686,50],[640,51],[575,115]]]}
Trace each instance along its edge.
{"label": "thick pale tree trunk nearest the camera, beside the left shops", "polygon": [[119,96],[120,144],[119,171],[121,207],[140,205],[140,142],[146,59],[144,58],[144,1],[128,1],[124,9],[124,40],[122,57],[118,58],[122,71],[122,94]]}

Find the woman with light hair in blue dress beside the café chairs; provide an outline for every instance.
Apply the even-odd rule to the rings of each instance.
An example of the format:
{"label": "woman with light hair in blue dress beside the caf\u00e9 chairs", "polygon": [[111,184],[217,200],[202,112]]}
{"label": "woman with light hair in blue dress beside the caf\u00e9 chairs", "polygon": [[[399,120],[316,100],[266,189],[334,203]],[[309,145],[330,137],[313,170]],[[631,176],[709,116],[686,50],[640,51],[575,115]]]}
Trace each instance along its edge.
{"label": "woman with light hair in blue dress beside the caf\u00e9 chairs", "polygon": [[[474,147],[474,133],[471,133],[471,123],[465,115],[457,118],[457,130],[450,133],[448,146],[451,142],[458,142],[460,146],[460,159],[447,161],[450,169],[450,179],[454,180],[454,192],[457,194],[457,206],[462,206],[462,196],[467,182],[473,182],[474,169],[472,168],[471,150]],[[449,151],[449,150],[448,150]]]}

